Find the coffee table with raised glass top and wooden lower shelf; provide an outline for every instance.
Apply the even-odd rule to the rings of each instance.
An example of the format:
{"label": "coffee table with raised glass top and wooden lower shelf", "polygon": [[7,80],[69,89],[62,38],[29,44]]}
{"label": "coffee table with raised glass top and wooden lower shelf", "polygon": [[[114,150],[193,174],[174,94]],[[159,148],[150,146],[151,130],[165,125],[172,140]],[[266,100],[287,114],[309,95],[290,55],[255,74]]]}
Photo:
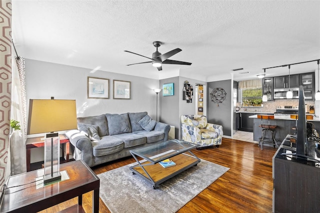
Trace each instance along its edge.
{"label": "coffee table with raised glass top and wooden lower shelf", "polygon": [[[200,159],[190,150],[198,144],[172,139],[157,144],[130,150],[137,164],[130,166],[133,174],[137,174],[158,188],[158,185],[176,174],[196,165]],[[142,158],[139,160],[137,157]],[[172,160],[175,165],[162,167],[160,161]]]}

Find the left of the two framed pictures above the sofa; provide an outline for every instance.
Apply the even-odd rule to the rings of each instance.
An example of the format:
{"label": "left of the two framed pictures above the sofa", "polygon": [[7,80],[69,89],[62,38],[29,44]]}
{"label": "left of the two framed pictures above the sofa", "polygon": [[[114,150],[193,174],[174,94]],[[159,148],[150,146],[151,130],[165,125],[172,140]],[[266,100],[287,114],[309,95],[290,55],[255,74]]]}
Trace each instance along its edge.
{"label": "left of the two framed pictures above the sofa", "polygon": [[88,77],[87,95],[88,98],[109,98],[109,79]]}

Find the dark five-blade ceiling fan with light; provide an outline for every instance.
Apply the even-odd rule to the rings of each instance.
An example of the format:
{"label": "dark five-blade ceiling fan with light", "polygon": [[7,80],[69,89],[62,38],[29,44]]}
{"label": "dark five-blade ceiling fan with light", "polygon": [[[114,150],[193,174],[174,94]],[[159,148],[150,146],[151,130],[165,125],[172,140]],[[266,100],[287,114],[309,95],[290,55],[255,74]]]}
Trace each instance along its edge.
{"label": "dark five-blade ceiling fan with light", "polygon": [[[145,62],[140,62],[140,63],[151,63],[154,67],[156,67],[159,71],[162,70],[162,63],[163,64],[182,64],[182,65],[191,65],[191,63],[189,62],[184,62],[184,61],[179,61],[179,60],[170,60],[168,59],[169,57],[171,57],[172,55],[178,53],[179,51],[182,51],[182,49],[180,48],[176,48],[176,49],[172,49],[171,51],[168,51],[164,54],[161,54],[160,52],[158,52],[158,47],[161,45],[161,41],[153,41],[153,46],[156,47],[155,52],[152,53],[152,58],[150,57],[146,57],[144,55],[140,55],[134,52],[130,52],[127,50],[124,50],[125,52],[130,52],[133,54],[137,54],[140,55],[142,57],[146,57],[149,58],[150,61],[145,61]],[[127,64],[127,66],[129,65],[133,65],[133,64],[139,64],[139,63],[131,63],[131,64]]]}

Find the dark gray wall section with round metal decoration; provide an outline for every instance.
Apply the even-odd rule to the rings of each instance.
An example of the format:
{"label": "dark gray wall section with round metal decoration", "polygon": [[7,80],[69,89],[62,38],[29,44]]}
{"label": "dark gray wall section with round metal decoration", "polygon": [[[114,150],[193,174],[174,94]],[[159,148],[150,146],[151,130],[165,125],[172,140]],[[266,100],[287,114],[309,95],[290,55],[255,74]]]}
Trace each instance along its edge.
{"label": "dark gray wall section with round metal decoration", "polygon": [[[210,123],[219,124],[223,127],[223,135],[231,136],[231,127],[233,121],[231,121],[231,111],[233,113],[233,108],[231,110],[231,80],[220,80],[207,83],[207,120]],[[211,101],[210,92],[214,88],[221,87],[226,92],[226,97],[222,103],[215,103]]]}

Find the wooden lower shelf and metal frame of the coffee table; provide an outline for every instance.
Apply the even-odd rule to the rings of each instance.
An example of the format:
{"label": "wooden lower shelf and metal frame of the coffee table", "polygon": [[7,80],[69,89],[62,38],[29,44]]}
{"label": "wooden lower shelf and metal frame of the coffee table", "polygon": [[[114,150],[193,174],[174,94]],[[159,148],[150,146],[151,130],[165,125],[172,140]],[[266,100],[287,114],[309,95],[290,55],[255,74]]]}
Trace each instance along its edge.
{"label": "wooden lower shelf and metal frame of the coffee table", "polygon": [[[197,145],[194,146],[194,148]],[[154,189],[158,188],[158,185],[165,180],[181,173],[182,171],[190,168],[193,165],[196,165],[201,160],[195,156],[190,150],[186,150],[185,152],[174,152],[172,154],[164,155],[165,157],[159,159],[155,162],[150,162],[143,158],[143,155],[137,155],[134,153],[134,150],[131,151],[132,156],[137,161],[138,164],[130,166],[130,170],[133,174],[137,174],[150,182]],[[190,154],[186,154],[186,153]],[[137,156],[142,157],[143,160],[138,160]],[[176,165],[163,168],[159,163],[159,161],[170,158]]]}

